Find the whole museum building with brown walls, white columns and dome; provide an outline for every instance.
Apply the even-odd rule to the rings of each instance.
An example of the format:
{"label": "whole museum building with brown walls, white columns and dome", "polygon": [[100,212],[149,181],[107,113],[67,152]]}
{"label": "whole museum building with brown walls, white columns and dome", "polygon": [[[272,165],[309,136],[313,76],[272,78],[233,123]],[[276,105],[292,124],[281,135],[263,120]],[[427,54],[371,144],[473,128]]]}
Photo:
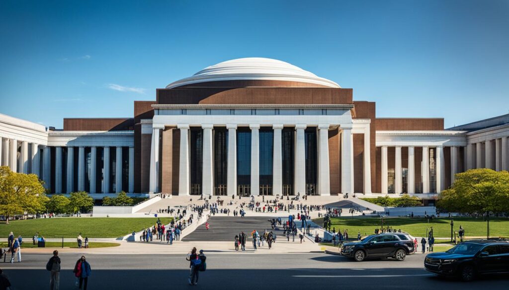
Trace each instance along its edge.
{"label": "whole museum building with brown walls, white columns and dome", "polygon": [[353,89],[287,62],[220,62],[135,101],[129,118],[63,129],[0,114],[0,164],[51,193],[436,195],[472,168],[509,169],[509,114],[444,129],[377,118]]}

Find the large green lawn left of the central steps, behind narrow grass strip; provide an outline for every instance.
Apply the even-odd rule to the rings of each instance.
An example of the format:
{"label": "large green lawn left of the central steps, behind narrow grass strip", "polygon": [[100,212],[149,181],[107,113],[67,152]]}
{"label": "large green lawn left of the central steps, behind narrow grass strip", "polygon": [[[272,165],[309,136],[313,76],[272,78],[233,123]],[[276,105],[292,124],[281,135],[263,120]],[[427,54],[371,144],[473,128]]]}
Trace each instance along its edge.
{"label": "large green lawn left of the central steps, behind narrow grass strip", "polygon": [[[171,222],[171,217],[161,217],[161,222]],[[28,220],[12,220],[0,223],[0,237],[7,238],[10,232],[21,235],[26,242],[32,242],[36,232],[45,238],[118,238],[132,231],[140,231],[154,225],[156,217],[57,217]]]}

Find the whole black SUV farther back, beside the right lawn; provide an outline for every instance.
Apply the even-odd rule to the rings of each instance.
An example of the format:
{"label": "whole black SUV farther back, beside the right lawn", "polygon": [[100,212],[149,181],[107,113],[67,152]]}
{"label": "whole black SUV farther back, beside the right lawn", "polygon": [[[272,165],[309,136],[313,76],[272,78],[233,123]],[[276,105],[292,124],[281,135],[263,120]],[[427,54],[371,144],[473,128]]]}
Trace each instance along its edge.
{"label": "whole black SUV farther back, beside the right lawn", "polygon": [[352,257],[357,262],[386,257],[403,261],[406,255],[413,252],[414,243],[406,233],[371,235],[359,242],[344,243],[341,246],[341,255]]}

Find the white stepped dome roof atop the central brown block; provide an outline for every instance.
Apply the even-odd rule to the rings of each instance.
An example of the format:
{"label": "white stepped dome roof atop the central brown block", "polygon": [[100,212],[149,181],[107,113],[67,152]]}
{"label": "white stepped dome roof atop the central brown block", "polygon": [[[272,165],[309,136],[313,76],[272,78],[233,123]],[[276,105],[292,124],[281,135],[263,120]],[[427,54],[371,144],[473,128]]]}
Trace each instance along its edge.
{"label": "white stepped dome roof atop the central brown block", "polygon": [[335,82],[318,77],[288,62],[264,57],[246,57],[219,62],[217,65],[205,68],[191,77],[173,82],[167,85],[166,88],[231,80],[293,81],[340,88]]}

